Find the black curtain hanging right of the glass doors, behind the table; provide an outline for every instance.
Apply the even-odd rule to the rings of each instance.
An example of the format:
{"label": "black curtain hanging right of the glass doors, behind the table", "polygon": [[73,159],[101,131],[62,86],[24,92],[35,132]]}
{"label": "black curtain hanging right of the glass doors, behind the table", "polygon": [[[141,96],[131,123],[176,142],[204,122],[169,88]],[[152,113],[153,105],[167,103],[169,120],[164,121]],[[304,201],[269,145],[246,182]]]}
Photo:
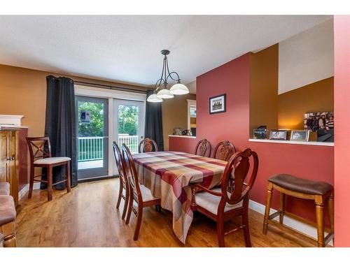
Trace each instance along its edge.
{"label": "black curtain hanging right of the glass doors, behind the table", "polygon": [[[153,90],[147,90],[147,98],[153,94]],[[157,143],[159,150],[164,150],[162,103],[150,103],[146,101],[145,138],[151,138]]]}

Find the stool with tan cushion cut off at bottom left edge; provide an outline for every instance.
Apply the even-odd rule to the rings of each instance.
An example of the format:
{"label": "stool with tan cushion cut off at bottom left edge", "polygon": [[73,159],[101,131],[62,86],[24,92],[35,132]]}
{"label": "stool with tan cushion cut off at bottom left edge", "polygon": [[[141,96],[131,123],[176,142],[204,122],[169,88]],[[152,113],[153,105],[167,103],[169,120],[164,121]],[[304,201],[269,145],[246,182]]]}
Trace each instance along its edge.
{"label": "stool with tan cushion cut off at bottom left edge", "polygon": [[0,196],[0,234],[3,247],[16,247],[15,202],[12,196]]}

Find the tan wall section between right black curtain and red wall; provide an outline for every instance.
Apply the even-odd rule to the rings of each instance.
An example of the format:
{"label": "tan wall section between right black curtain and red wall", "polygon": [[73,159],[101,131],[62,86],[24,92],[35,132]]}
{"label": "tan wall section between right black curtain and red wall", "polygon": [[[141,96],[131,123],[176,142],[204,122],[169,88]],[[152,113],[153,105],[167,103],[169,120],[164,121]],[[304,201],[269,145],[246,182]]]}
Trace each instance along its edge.
{"label": "tan wall section between right black curtain and red wall", "polygon": [[162,103],[164,149],[169,150],[169,135],[174,127],[187,129],[187,99],[196,99],[195,94],[175,96]]}

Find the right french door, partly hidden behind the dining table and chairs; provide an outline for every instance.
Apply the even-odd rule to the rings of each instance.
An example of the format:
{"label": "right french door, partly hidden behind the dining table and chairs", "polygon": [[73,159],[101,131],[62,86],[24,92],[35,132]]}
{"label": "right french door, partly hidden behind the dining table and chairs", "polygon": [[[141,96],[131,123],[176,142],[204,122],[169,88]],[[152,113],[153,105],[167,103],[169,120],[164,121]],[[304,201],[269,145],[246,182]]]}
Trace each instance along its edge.
{"label": "right french door, partly hidden behind the dining table and chairs", "polygon": [[114,99],[113,116],[114,140],[120,147],[125,143],[132,154],[137,153],[144,138],[145,102]]}

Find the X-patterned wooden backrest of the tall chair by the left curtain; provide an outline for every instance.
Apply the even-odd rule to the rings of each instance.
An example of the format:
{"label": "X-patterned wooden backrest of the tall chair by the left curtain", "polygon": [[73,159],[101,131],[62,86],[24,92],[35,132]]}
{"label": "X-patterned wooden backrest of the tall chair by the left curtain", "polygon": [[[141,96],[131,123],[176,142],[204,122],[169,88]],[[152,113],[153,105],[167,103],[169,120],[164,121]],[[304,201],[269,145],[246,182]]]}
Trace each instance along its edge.
{"label": "X-patterned wooden backrest of the tall chair by the left curtain", "polygon": [[38,137],[38,138],[25,138],[29,147],[29,155],[31,163],[34,163],[36,159],[43,159],[51,157],[51,144],[50,138]]}

